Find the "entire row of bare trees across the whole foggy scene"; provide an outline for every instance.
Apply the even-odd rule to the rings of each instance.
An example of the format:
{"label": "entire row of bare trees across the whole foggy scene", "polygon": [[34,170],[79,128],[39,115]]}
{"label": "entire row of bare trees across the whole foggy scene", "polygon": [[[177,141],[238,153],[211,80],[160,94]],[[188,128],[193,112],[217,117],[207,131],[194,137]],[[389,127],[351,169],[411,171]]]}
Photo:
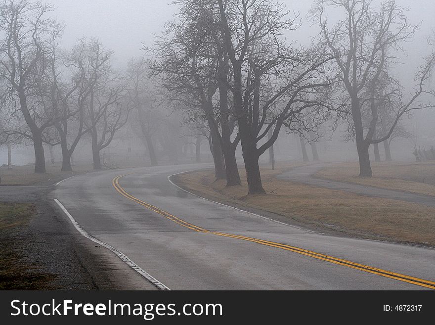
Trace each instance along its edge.
{"label": "entire row of bare trees across the whole foggy scene", "polygon": [[[113,52],[96,40],[81,39],[61,51],[62,26],[47,18],[49,5],[3,0],[3,141],[30,140],[36,172],[45,171],[43,143],[59,144],[66,171],[88,135],[99,169],[100,150],[130,115],[131,130],[157,165],[156,141],[171,147],[179,138],[169,124],[162,133],[169,106],[189,124],[197,148],[203,136],[209,139],[216,178],[227,186],[241,184],[240,143],[249,193],[263,193],[259,158],[269,150],[274,163],[273,143],[281,130],[303,143],[315,141],[328,119],[334,128],[346,125],[345,138],[356,142],[360,176],[370,177],[370,145],[376,156],[383,142],[391,159],[391,139],[406,134],[401,117],[432,107],[434,51],[422,58],[412,89],[395,76],[403,44],[419,25],[394,0],[315,0],[310,17],[319,33],[310,46],[287,41],[301,19],[271,0],[174,4],[179,12],[154,46],[144,48],[146,58],[131,59],[121,74],[111,66]],[[334,23],[330,11],[340,15]],[[174,153],[176,145],[168,151]]]}

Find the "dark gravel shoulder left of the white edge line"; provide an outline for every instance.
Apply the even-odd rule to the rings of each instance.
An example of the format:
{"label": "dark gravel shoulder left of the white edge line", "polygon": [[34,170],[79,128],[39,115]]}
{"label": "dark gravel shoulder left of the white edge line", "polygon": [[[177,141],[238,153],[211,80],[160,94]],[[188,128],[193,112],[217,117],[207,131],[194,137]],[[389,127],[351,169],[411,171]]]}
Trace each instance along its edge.
{"label": "dark gravel shoulder left of the white edge line", "polygon": [[[14,239],[10,250],[13,250],[16,268],[23,271],[22,276],[44,278],[44,283],[36,287],[43,290],[155,290],[154,285],[114,253],[77,232],[50,198],[58,181],[62,180],[44,184],[42,191],[38,191],[41,185],[29,186],[29,189],[38,188],[35,189],[38,199],[21,197],[19,201],[33,203],[35,212],[25,225],[3,232],[5,239]],[[13,188],[7,186],[8,190]],[[25,285],[18,284],[16,288],[32,289],[31,283],[30,287]]]}

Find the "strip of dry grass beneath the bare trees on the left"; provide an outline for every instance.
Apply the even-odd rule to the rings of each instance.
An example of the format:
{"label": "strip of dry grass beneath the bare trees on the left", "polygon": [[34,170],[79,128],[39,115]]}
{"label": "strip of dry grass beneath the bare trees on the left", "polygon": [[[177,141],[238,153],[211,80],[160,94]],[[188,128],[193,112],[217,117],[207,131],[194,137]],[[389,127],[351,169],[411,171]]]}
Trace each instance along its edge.
{"label": "strip of dry grass beneath the bare trees on the left", "polygon": [[14,166],[12,169],[0,167],[0,185],[36,185],[53,179],[63,179],[75,174],[92,171],[92,166],[75,166],[74,172],[61,172],[60,167],[46,166],[45,174],[35,174],[34,166]]}

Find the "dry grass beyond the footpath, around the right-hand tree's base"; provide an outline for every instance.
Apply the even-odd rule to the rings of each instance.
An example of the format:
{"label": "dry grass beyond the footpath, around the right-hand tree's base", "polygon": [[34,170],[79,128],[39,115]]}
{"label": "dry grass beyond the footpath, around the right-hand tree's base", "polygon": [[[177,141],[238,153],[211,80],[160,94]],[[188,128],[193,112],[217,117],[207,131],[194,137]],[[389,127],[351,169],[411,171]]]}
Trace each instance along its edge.
{"label": "dry grass beyond the footpath, around the right-hand tree's base", "polygon": [[359,178],[358,163],[325,167],[314,177],[435,196],[435,161],[373,163],[373,178]]}

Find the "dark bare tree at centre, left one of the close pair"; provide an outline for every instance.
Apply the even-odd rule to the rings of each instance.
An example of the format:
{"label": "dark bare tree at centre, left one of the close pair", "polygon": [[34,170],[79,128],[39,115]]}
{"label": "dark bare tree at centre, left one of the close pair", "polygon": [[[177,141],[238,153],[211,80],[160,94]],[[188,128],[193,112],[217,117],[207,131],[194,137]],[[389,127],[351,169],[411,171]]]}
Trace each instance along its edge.
{"label": "dark bare tree at centre, left one of the close pair", "polygon": [[[215,1],[175,2],[181,5],[181,21],[165,25],[164,35],[151,49],[156,55],[151,68],[168,92],[165,99],[188,115],[204,118],[209,124],[216,178],[226,178],[228,186],[239,185],[235,159],[238,139],[231,139],[234,124],[231,124],[227,95],[223,90],[223,74],[227,70],[221,56],[217,12],[213,9]],[[220,97],[216,105],[218,90]]]}

